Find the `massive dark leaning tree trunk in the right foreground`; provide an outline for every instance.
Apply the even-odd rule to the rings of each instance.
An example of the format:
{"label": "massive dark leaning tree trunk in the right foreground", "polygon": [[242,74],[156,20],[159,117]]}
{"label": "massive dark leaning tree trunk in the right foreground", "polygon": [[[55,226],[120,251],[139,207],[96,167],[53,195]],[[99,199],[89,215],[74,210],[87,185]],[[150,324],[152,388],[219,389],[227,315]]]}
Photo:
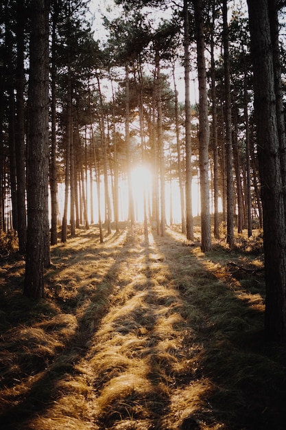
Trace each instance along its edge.
{"label": "massive dark leaning tree trunk in the right foreground", "polygon": [[[259,7],[258,7],[259,6]],[[265,252],[265,331],[286,340],[286,231],[268,1],[248,0],[254,72],[254,110],[263,204]],[[279,114],[278,114],[279,115]]]}

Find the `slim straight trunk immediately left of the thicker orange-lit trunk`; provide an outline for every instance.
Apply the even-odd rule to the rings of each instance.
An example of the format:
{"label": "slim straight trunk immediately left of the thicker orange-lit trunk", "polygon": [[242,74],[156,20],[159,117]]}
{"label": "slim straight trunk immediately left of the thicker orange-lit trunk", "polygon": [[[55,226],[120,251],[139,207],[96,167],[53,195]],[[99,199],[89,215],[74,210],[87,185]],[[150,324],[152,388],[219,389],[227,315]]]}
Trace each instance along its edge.
{"label": "slim straight trunk immediately left of the thicker orange-lit trunk", "polygon": [[186,139],[186,229],[187,239],[193,240],[193,208],[191,196],[191,102],[190,102],[190,54],[189,54],[189,1],[184,0],[184,110]]}

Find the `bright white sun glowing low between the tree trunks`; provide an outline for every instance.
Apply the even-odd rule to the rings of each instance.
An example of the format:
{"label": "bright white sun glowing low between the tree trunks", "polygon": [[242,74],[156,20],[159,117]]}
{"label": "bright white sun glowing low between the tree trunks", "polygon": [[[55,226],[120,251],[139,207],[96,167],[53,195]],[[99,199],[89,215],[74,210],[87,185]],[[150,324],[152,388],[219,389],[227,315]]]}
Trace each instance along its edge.
{"label": "bright white sun glowing low between the tree trunks", "polygon": [[[132,194],[136,221],[143,222],[144,211],[152,194],[152,172],[142,164],[134,166],[131,171]],[[145,207],[145,209],[144,209]]]}

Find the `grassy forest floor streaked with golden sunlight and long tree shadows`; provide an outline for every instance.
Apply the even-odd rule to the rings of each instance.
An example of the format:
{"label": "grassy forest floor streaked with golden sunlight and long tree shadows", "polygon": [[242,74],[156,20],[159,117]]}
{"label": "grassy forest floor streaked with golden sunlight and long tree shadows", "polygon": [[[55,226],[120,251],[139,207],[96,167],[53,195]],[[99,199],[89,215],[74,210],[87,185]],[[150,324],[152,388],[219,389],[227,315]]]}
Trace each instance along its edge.
{"label": "grassy forest floor streaked with golden sunlight and long tree shadows", "polygon": [[100,244],[93,226],[52,247],[38,303],[2,249],[0,429],[285,429],[259,231],[236,244],[202,253],[179,227],[141,226]]}

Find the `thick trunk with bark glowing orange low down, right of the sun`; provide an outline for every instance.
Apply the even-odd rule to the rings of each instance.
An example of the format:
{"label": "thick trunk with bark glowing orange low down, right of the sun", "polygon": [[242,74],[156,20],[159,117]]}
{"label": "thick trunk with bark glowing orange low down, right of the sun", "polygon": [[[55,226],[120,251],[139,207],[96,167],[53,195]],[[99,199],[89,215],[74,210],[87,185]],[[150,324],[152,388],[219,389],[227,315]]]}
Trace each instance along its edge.
{"label": "thick trunk with bark glowing orange low down, right of the sun", "polygon": [[199,81],[199,157],[200,157],[200,196],[201,196],[201,229],[203,252],[211,249],[211,214],[208,185],[208,98],[206,90],[206,64],[204,59],[204,22],[202,16],[202,0],[193,0],[195,8],[195,36],[197,39],[197,62]]}

